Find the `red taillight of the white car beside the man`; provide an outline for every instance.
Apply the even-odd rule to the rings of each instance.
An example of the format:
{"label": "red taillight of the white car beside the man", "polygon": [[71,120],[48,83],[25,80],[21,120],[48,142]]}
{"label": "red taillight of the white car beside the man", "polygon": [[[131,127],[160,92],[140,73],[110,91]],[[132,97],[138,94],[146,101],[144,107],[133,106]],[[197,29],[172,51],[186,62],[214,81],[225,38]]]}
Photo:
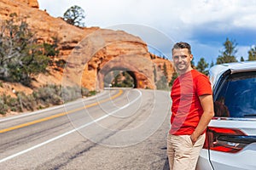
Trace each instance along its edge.
{"label": "red taillight of the white car beside the man", "polygon": [[204,149],[236,153],[247,144],[240,139],[247,136],[236,128],[208,127]]}

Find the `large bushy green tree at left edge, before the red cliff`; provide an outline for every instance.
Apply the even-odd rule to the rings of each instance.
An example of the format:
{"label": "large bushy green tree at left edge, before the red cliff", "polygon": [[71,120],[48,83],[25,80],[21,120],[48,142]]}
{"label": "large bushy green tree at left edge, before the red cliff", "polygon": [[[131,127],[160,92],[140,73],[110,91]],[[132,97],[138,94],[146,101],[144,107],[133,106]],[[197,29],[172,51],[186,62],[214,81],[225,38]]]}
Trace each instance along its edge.
{"label": "large bushy green tree at left edge, before the red cliff", "polygon": [[49,58],[17,14],[10,14],[0,29],[0,78],[29,86],[33,75],[46,71]]}

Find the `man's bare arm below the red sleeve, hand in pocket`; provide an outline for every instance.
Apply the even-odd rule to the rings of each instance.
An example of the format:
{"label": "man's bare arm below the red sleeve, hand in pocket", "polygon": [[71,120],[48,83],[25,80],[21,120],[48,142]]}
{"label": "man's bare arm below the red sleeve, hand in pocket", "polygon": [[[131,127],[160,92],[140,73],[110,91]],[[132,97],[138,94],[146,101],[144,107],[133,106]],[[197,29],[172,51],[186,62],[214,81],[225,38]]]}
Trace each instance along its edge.
{"label": "man's bare arm below the red sleeve, hand in pocket", "polygon": [[212,116],[214,116],[212,95],[201,95],[199,96],[199,99],[204,112],[201,116],[200,122],[195,128],[194,133],[192,133],[190,136],[190,139],[193,144],[195,144],[196,140],[201,135],[201,133],[205,131],[207,125],[212,119]]}

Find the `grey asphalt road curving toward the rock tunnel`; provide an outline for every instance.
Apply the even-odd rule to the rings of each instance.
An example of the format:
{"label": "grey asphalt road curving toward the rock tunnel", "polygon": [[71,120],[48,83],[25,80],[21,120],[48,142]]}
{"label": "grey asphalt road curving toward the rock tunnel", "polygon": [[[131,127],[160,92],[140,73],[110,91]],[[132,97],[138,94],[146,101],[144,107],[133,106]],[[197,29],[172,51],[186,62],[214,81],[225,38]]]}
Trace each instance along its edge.
{"label": "grey asphalt road curving toward the rock tunnel", "polygon": [[168,92],[105,90],[0,119],[0,169],[168,169]]}

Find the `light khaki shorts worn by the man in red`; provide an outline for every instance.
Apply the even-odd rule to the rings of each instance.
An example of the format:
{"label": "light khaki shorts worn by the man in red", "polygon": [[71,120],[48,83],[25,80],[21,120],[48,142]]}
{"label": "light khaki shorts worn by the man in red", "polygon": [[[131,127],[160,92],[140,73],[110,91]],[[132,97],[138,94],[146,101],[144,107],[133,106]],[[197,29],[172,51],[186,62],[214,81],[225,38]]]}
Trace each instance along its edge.
{"label": "light khaki shorts worn by the man in red", "polygon": [[195,169],[205,139],[206,134],[202,134],[193,145],[190,135],[172,135],[168,133],[167,155],[170,170]]}

